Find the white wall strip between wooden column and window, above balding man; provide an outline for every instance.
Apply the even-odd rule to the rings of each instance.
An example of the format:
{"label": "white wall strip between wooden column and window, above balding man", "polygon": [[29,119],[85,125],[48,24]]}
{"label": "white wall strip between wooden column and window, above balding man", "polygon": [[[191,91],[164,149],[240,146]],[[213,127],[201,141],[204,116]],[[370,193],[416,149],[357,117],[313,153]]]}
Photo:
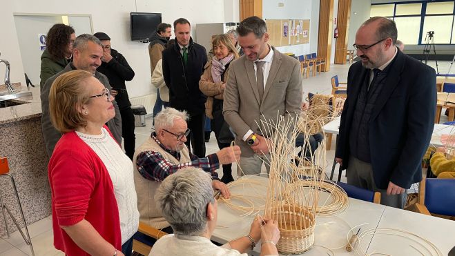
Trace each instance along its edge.
{"label": "white wall strip between wooden column and window, above balding man", "polygon": [[347,48],[354,50],[352,46],[356,41],[356,32],[360,25],[369,19],[369,12],[371,9],[370,0],[351,0],[351,19],[349,21],[349,31],[347,37]]}

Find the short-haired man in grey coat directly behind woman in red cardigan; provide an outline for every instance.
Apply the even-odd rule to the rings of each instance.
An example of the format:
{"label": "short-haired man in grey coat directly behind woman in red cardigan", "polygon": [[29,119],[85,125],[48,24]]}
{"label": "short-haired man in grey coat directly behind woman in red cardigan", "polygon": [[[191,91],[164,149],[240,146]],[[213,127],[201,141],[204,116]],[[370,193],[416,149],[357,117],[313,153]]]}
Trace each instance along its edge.
{"label": "short-haired man in grey coat directly behind woman in red cardigan", "polygon": [[[97,68],[101,65],[101,57],[103,57],[103,47],[101,41],[89,34],[82,34],[76,37],[72,45],[72,62],[61,72],[53,77],[50,77],[44,86],[41,88],[41,129],[43,130],[44,144],[46,144],[46,152],[48,156],[52,155],[55,144],[59,141],[61,134],[58,132],[50,121],[49,114],[49,91],[52,83],[59,77],[59,75],[69,72],[71,70],[86,70],[93,74],[108,90],[110,85],[107,77],[100,72]],[[107,126],[112,133],[115,140],[122,144],[122,118],[120,117],[119,106],[115,100],[112,102],[115,108],[115,117],[107,122]]]}

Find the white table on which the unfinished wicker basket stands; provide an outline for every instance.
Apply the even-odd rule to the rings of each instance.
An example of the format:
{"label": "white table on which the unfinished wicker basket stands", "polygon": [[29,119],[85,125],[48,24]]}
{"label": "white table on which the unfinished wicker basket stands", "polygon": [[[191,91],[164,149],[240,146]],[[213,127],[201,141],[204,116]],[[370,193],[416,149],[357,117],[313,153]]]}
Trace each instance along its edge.
{"label": "white table on which the unfinished wicker basket stands", "polygon": [[[253,177],[267,182],[267,178],[264,177]],[[254,191],[253,191],[254,190]],[[260,190],[248,188],[247,186],[235,187],[231,190],[233,194],[242,195],[256,195],[260,193]],[[263,188],[262,191],[265,195],[267,188]],[[324,194],[321,195],[320,202],[325,201]],[[251,197],[251,199],[254,199]],[[385,206],[380,204],[371,204],[366,201],[360,201],[357,199],[349,199],[349,208],[345,213],[341,213],[336,217],[317,217],[316,228],[315,228],[315,244],[322,245],[329,248],[338,248],[333,250],[336,255],[355,255],[354,252],[347,252],[345,246],[347,244],[347,232],[350,228],[358,226],[360,224],[366,224],[362,226],[363,229],[376,228],[380,221],[381,215]],[[260,213],[263,215],[263,211]],[[229,208],[226,204],[218,203],[218,215],[217,215],[217,228],[213,231],[211,239],[220,244],[225,244],[235,238],[243,235],[248,235],[251,222],[254,216],[240,217],[240,213]],[[360,230],[360,232],[362,231]],[[356,230],[357,231],[357,228]],[[369,246],[370,239],[362,241],[362,246],[367,248]],[[259,255],[260,246],[256,246],[253,255]],[[304,255],[327,255],[327,249],[314,246]]]}

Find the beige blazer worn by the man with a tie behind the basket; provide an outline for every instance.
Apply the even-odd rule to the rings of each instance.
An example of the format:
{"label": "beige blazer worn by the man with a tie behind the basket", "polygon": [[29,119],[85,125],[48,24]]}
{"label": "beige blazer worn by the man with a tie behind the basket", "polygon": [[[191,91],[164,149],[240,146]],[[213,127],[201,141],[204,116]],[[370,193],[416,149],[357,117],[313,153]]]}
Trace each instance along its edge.
{"label": "beige blazer worn by the man with a tie behind the basket", "polygon": [[223,115],[235,132],[235,143],[240,146],[242,157],[254,155],[250,146],[242,140],[248,130],[261,134],[261,130],[265,131],[261,120],[276,121],[278,115],[296,118],[300,115],[301,104],[302,75],[297,59],[273,48],[273,60],[262,99],[259,98],[253,62],[242,56],[231,63],[224,90]]}

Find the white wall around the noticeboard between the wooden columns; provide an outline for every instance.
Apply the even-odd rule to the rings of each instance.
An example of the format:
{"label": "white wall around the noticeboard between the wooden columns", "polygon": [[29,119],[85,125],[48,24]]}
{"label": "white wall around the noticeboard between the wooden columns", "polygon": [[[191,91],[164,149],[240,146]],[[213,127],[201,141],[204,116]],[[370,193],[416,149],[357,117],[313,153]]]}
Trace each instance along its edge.
{"label": "white wall around the noticeboard between the wooden columns", "polygon": [[[280,52],[293,52],[295,55],[307,55],[310,52],[310,44],[313,37],[316,37],[316,50],[318,45],[318,30],[313,31],[313,22],[319,21],[319,3],[318,3],[318,17],[313,20],[315,16],[312,13],[314,0],[263,0],[262,1],[262,18],[263,19],[310,19],[310,43],[298,44],[296,46],[280,46],[277,49]],[[278,3],[284,3],[283,7],[278,7]],[[316,52],[315,50],[315,52]]]}

